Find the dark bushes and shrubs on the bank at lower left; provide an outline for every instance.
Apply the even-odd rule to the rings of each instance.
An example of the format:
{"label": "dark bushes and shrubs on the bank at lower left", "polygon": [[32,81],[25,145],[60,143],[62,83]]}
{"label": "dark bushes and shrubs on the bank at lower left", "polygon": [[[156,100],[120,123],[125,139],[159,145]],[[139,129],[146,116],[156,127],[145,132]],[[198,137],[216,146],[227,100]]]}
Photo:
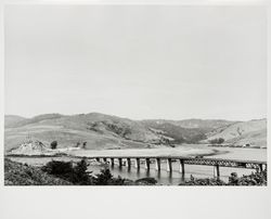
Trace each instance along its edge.
{"label": "dark bushes and shrubs on the bank at lower left", "polygon": [[85,159],[76,164],[52,160],[41,168],[4,159],[5,185],[153,185],[156,183],[154,178],[137,181],[114,178],[106,168],[98,175],[92,175],[88,171]]}

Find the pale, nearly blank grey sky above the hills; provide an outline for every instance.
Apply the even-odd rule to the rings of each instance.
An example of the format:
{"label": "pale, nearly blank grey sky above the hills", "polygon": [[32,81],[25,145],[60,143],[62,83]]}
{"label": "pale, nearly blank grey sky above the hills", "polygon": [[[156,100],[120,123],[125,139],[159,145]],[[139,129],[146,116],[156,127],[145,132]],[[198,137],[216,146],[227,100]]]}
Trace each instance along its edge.
{"label": "pale, nearly blank grey sky above the hills", "polygon": [[260,7],[7,5],[5,114],[267,116]]}

